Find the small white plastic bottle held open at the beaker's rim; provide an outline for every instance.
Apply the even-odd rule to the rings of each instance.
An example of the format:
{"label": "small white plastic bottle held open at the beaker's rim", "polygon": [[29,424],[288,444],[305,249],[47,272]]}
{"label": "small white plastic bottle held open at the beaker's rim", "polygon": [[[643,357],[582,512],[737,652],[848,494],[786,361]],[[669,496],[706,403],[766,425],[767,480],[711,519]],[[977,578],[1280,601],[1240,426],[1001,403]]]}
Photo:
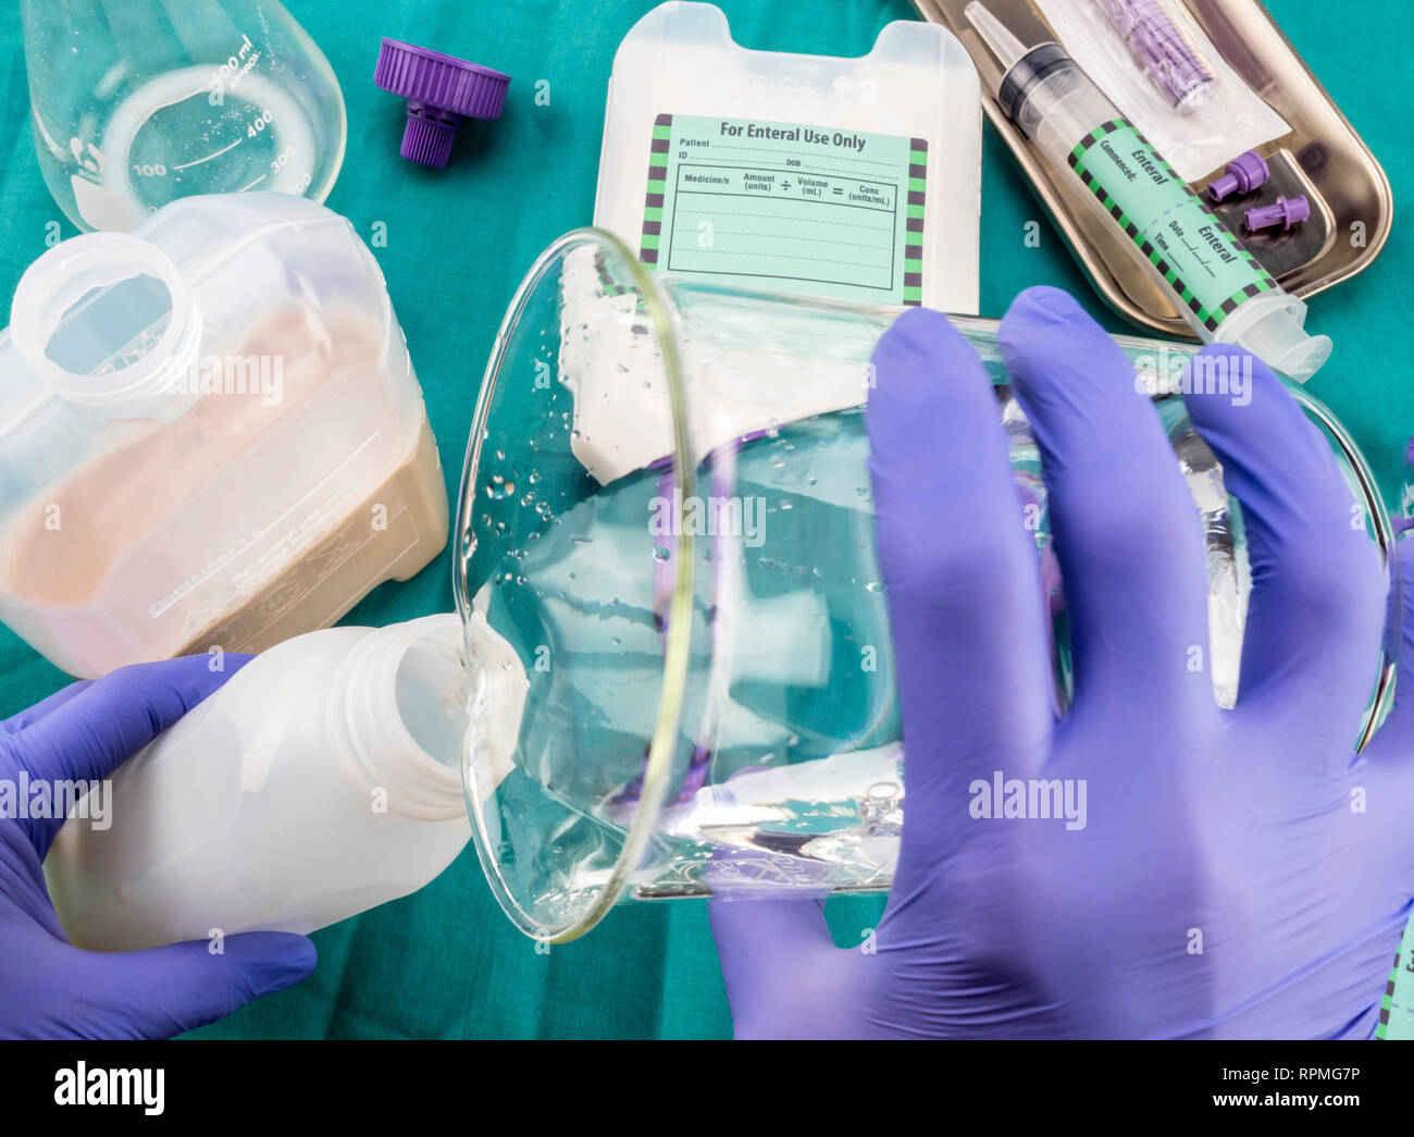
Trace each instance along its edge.
{"label": "small white plastic bottle held open at the beaker's rim", "polygon": [[461,764],[503,765],[525,689],[478,614],[465,638],[448,614],[257,656],[119,768],[109,829],[59,832],[45,874],[71,942],[307,933],[421,888],[471,836]]}

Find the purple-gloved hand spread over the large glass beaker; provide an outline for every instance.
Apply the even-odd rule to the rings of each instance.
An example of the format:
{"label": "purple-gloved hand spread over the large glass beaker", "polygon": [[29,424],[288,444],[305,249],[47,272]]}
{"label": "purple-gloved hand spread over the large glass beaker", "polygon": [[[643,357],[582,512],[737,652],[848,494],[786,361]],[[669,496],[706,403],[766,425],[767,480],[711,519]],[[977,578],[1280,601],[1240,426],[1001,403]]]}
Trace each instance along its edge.
{"label": "purple-gloved hand spread over the large glass beaker", "polygon": [[[868,406],[908,781],[892,895],[874,955],[834,948],[819,904],[715,902],[738,1035],[1372,1037],[1414,897],[1414,619],[1356,758],[1389,587],[1328,443],[1266,366],[1203,349],[1250,369],[1246,404],[1186,396],[1251,563],[1225,711],[1192,669],[1199,516],[1133,368],[1053,288],[1000,338],[1051,491],[1073,706],[1049,710],[987,376],[912,311]],[[1085,826],[973,816],[995,771],[1083,786]]]}

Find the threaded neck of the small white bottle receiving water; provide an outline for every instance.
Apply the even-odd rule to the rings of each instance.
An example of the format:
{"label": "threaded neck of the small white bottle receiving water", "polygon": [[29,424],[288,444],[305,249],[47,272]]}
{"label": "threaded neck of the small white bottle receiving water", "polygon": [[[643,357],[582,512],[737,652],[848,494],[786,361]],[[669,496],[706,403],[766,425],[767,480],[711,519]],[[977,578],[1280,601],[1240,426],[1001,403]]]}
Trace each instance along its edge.
{"label": "threaded neck of the small white bottle receiving water", "polygon": [[399,669],[409,652],[431,648],[438,660],[445,659],[438,684],[447,713],[460,713],[462,707],[452,700],[460,701],[457,693],[467,689],[469,675],[460,662],[461,639],[461,619],[455,614],[380,628],[349,652],[335,677],[331,734],[362,781],[386,791],[387,807],[397,813],[426,820],[450,820],[465,813],[464,752],[430,754],[414,737],[407,707],[400,706],[397,696]]}

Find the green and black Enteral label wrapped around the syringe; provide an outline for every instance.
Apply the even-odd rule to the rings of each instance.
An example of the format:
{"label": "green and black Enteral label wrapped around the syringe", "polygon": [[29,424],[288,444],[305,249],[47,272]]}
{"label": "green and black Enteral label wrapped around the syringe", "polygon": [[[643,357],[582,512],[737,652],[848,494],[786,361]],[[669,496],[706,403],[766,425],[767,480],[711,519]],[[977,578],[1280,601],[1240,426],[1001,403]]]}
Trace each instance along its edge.
{"label": "green and black Enteral label wrapped around the syringe", "polygon": [[1069,156],[1086,188],[1110,211],[1209,331],[1277,283],[1124,119],[1097,126]]}

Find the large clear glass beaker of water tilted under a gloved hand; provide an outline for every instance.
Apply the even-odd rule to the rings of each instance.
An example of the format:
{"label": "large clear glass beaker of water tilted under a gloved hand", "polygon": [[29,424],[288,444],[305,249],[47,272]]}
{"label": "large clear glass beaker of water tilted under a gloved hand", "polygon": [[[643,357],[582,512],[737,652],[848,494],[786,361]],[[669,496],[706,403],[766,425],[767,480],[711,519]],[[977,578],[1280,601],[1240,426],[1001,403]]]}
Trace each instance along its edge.
{"label": "large clear glass beaker of water tilted under a gloved hand", "polygon": [[[510,762],[464,771],[482,865],[529,935],[574,939],[622,895],[888,888],[904,745],[863,407],[901,311],[653,274],[594,229],[556,242],[520,286],[469,440],[455,588],[529,680]],[[1029,506],[1059,714],[1069,646],[1041,461],[995,321],[954,322],[991,373]],[[1189,351],[1117,342],[1158,392],[1203,518],[1213,693],[1232,706],[1241,512],[1165,393]],[[1389,516],[1363,458],[1294,396],[1383,554]],[[1370,660],[1352,744],[1387,707],[1391,659],[1386,645]]]}

